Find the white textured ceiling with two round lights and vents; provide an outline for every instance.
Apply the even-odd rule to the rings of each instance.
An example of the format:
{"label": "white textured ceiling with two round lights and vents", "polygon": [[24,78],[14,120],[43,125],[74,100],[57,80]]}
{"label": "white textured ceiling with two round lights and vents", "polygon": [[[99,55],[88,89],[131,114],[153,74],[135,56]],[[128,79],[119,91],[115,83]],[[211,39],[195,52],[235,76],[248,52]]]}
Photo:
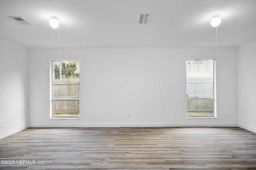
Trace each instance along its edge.
{"label": "white textured ceiling with two round lights and vents", "polygon": [[[138,13],[150,13],[137,24]],[[0,0],[0,37],[26,47],[210,47],[256,40],[256,0]],[[32,25],[20,25],[21,16]]]}

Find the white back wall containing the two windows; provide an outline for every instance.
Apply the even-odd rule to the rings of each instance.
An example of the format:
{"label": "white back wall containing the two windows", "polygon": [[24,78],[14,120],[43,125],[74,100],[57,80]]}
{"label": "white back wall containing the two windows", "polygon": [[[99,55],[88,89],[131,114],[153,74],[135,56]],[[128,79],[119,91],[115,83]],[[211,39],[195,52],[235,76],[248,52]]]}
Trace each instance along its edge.
{"label": "white back wall containing the two windows", "polygon": [[[237,48],[215,55],[211,47],[29,49],[30,127],[237,126]],[[190,58],[216,58],[217,119],[186,119]],[[51,59],[80,59],[79,120],[50,120]]]}

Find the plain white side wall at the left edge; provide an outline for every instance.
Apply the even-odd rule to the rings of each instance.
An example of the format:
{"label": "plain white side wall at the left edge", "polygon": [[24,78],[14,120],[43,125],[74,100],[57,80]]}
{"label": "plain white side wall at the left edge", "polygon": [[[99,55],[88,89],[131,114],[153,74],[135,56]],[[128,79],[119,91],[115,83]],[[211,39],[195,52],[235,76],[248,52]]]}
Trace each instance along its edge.
{"label": "plain white side wall at the left edge", "polygon": [[28,49],[0,38],[0,138],[28,127]]}

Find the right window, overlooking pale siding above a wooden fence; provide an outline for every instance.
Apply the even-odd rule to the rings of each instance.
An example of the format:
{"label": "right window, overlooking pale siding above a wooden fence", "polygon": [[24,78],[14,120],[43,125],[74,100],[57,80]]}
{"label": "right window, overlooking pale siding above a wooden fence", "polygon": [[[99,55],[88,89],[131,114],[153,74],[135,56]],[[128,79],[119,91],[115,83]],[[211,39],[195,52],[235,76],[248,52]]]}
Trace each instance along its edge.
{"label": "right window, overlooking pale siding above a wooden fence", "polygon": [[216,117],[215,60],[186,60],[187,117]]}

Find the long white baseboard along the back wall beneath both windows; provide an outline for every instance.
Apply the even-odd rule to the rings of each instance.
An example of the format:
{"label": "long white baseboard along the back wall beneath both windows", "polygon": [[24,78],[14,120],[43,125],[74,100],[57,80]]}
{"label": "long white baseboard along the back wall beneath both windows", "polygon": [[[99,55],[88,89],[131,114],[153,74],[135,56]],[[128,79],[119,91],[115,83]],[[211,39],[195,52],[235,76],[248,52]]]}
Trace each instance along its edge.
{"label": "long white baseboard along the back wall beneath both windows", "polygon": [[237,127],[236,123],[194,123],[194,124],[180,124],[180,123],[153,123],[153,124],[32,124],[29,127]]}

